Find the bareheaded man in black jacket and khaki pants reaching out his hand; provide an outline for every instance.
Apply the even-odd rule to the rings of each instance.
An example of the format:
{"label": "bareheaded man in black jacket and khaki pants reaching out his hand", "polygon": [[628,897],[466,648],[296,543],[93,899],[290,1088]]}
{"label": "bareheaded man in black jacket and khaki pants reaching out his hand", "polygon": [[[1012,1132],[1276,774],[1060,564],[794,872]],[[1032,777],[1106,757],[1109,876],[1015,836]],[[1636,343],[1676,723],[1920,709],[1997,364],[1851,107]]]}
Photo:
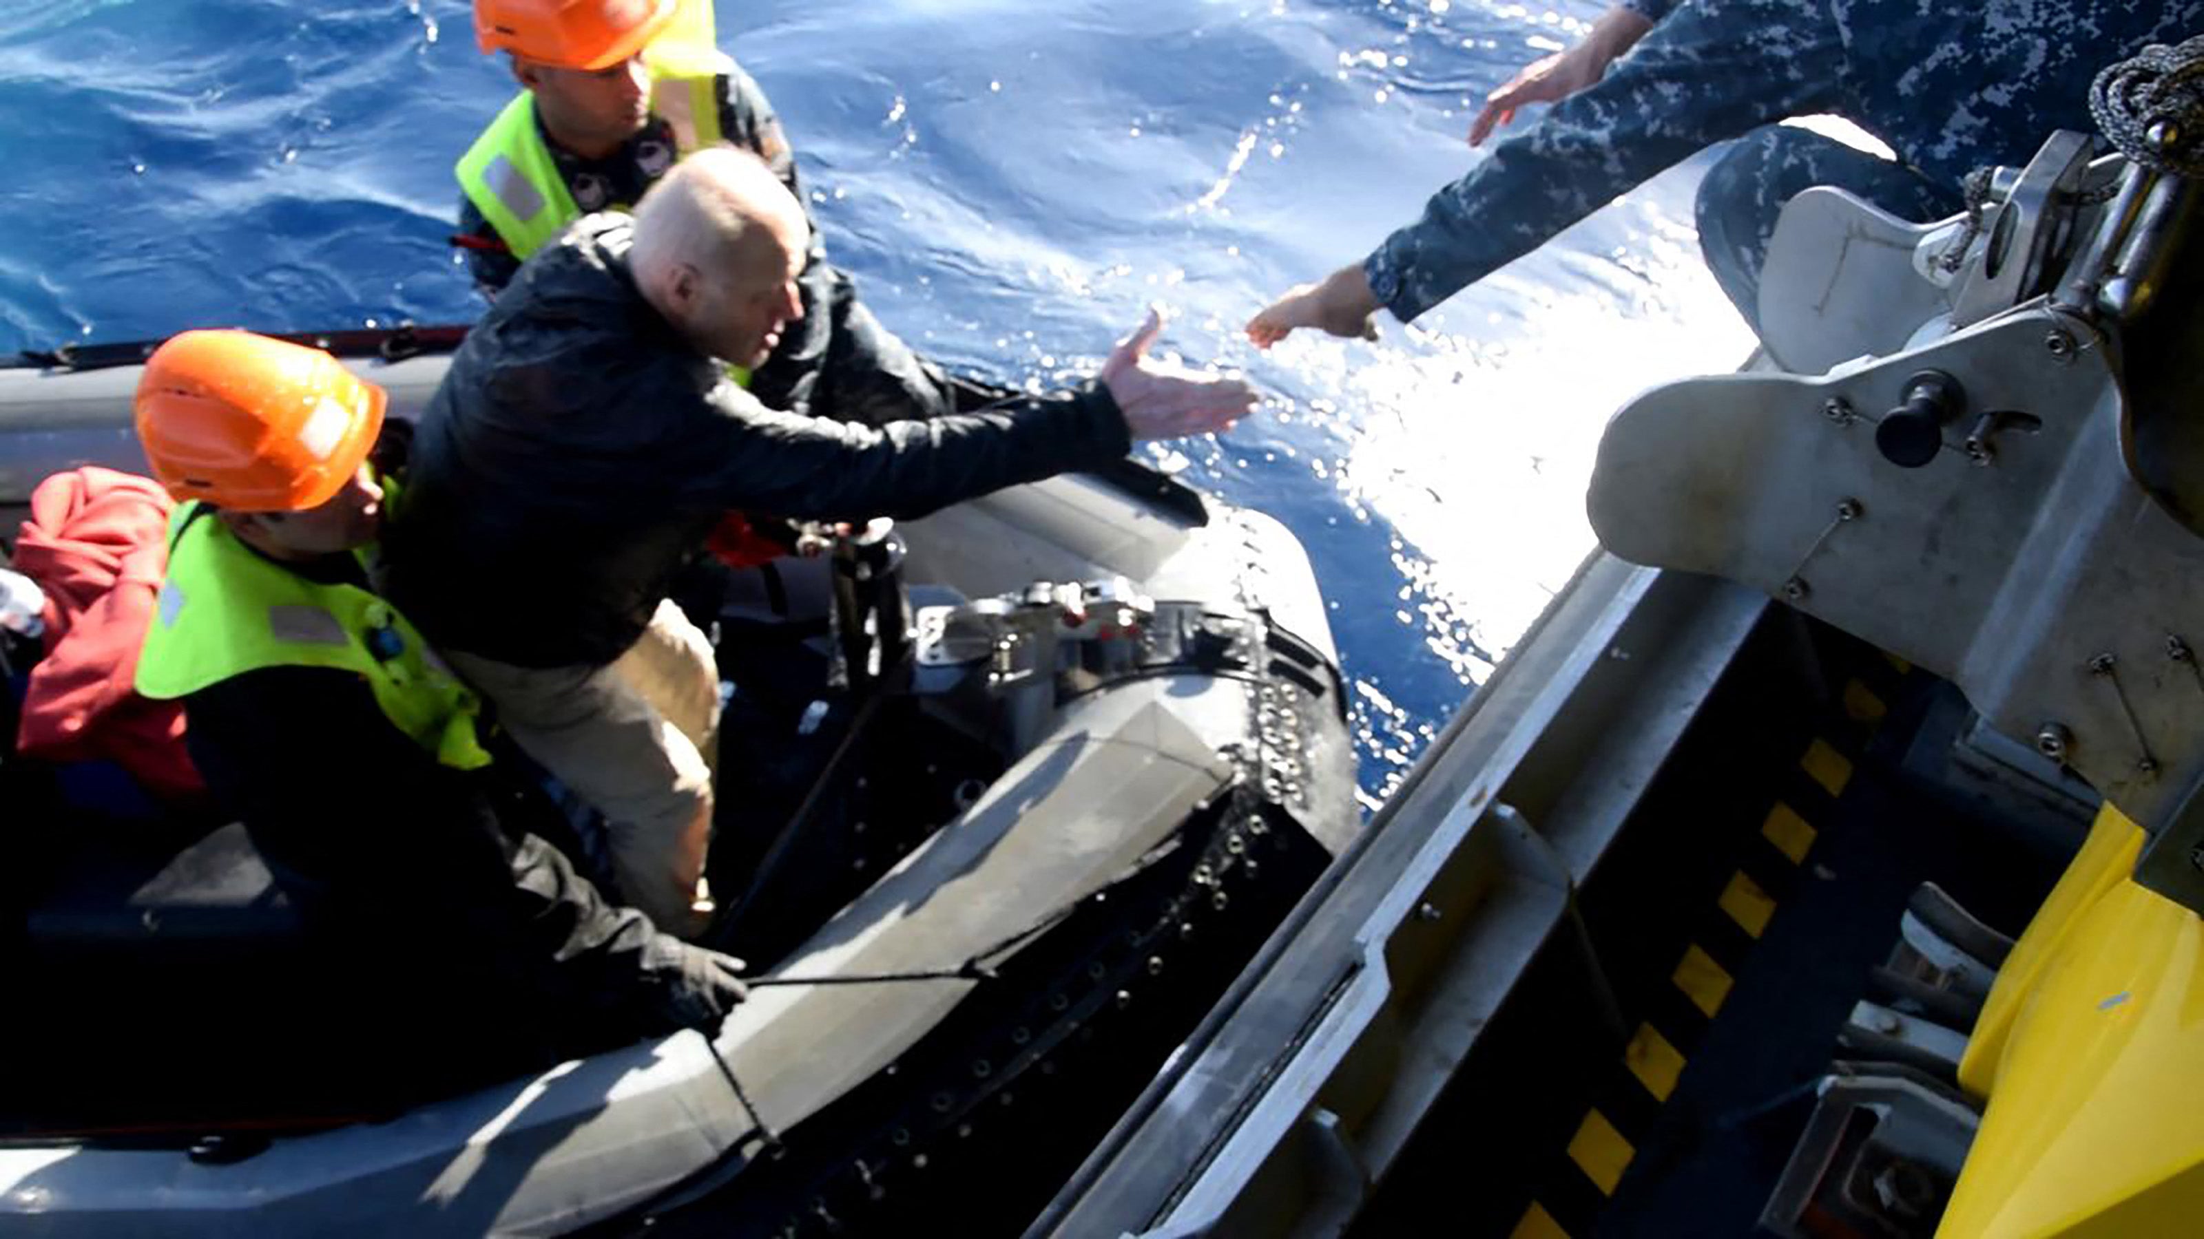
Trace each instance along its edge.
{"label": "bareheaded man in black jacket and khaki pants reaching out his hand", "polygon": [[1254,403],[1234,379],[1144,362],[1150,317],[1076,392],[877,428],[776,412],[727,366],[758,364],[800,322],[807,236],[771,170],[730,148],[685,159],[633,220],[582,218],[452,359],[388,540],[392,597],[606,814],[622,895],[677,933],[699,928],[710,774],[668,692],[613,664],[639,642],[701,650],[657,679],[688,701],[716,688],[666,593],[727,509],[921,516],[1102,465],[1133,439],[1221,430]]}

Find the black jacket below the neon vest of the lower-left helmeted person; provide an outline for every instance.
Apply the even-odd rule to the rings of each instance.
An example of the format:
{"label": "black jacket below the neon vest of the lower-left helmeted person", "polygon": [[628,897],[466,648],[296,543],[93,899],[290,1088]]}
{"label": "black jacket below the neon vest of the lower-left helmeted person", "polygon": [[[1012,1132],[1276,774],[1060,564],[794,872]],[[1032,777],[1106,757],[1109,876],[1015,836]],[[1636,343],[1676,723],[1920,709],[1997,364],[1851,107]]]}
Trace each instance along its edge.
{"label": "black jacket below the neon vest of the lower-left helmeted person", "polygon": [[456,772],[350,672],[251,670],[185,699],[185,743],[300,904],[359,1041],[428,1054],[425,1091],[692,1025],[696,950],[527,833],[498,767]]}

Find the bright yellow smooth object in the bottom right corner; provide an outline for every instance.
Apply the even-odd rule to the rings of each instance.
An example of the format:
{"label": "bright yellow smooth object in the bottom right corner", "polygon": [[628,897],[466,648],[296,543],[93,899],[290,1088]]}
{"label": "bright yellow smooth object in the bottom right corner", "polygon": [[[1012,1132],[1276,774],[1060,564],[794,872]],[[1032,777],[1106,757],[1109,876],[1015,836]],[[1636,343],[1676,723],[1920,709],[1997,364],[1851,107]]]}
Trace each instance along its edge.
{"label": "bright yellow smooth object in the bottom right corner", "polygon": [[2204,1235],[2204,922],[2136,886],[2140,849],[2105,805],[1999,970],[1940,1237]]}

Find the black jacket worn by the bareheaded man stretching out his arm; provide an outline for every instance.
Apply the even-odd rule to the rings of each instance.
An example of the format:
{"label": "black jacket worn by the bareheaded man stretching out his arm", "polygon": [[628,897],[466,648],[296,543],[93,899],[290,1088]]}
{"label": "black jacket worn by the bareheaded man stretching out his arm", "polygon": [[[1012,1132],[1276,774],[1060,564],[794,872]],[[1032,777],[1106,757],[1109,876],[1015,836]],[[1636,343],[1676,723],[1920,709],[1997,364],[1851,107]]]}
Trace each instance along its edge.
{"label": "black jacket worn by the bareheaded man stretching out his arm", "polygon": [[769,410],[641,298],[630,223],[529,258],[421,417],[386,591],[439,646],[604,666],[727,509],[923,516],[1131,445],[1095,384],[877,428]]}

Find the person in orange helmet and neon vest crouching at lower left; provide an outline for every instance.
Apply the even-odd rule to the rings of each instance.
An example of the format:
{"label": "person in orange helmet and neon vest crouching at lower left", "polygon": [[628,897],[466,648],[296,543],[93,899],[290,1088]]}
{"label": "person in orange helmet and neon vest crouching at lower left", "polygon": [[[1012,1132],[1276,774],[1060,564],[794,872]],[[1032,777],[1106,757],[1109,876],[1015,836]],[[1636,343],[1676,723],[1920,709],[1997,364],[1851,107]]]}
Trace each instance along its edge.
{"label": "person in orange helmet and neon vest crouching at lower left", "polygon": [[383,392],[326,353],[190,331],[145,364],[139,439],[181,507],[137,688],[300,904],[344,1032],[408,1085],[480,1082],[743,999],[738,961],[608,904],[527,818],[478,701],[368,584]]}

